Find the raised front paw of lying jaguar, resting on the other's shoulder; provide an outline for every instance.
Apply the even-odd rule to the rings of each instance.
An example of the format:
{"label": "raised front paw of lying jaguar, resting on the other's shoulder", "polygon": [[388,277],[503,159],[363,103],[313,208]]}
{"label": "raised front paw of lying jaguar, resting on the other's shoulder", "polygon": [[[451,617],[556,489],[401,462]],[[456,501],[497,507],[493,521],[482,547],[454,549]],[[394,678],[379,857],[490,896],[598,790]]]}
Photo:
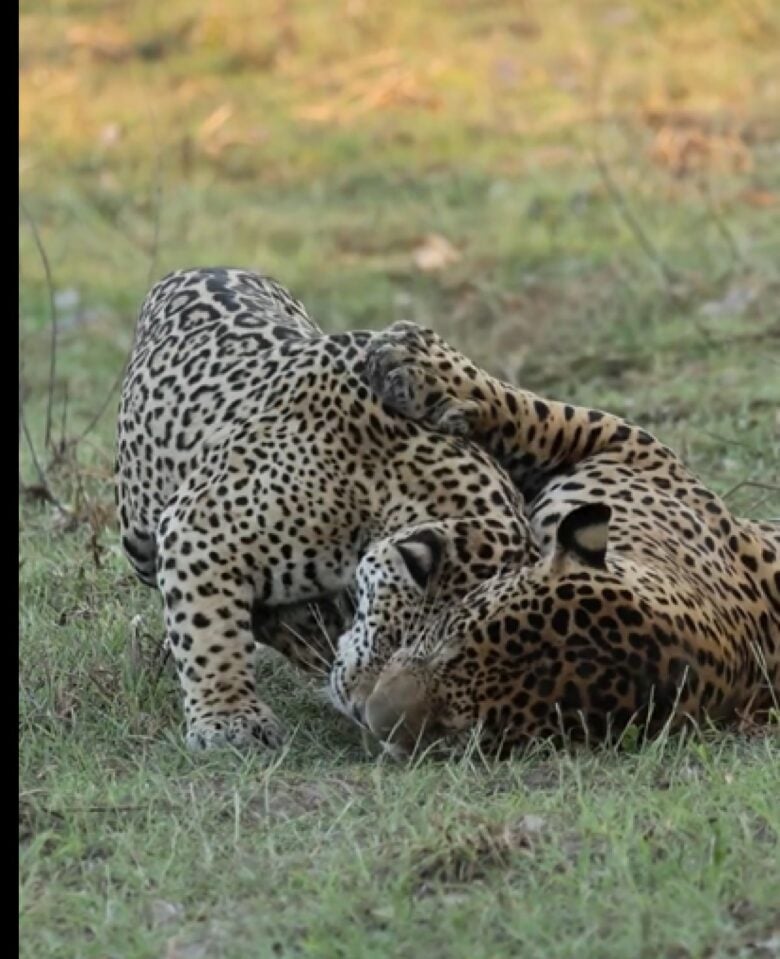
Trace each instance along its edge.
{"label": "raised front paw of lying jaguar, resting on the other's shoulder", "polygon": [[366,350],[366,379],[391,409],[431,429],[470,436],[479,407],[454,394],[438,368],[440,341],[414,323],[395,323],[377,334]]}

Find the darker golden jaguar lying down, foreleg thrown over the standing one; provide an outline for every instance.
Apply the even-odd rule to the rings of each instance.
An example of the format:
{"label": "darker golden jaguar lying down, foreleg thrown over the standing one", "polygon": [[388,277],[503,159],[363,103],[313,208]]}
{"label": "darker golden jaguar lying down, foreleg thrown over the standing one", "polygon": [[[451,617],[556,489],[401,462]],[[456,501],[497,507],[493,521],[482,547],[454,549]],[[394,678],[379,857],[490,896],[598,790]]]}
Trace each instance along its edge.
{"label": "darker golden jaguar lying down, foreleg thrown over the standing one", "polygon": [[[777,706],[780,525],[732,516],[645,430],[499,382],[428,330],[397,324],[367,351],[367,382],[388,406],[470,435],[505,467],[540,554],[442,609],[387,661],[367,611],[397,572],[376,544],[331,672],[338,708],[403,753],[478,727],[500,750]],[[445,545],[432,526],[421,596],[446,580]]]}

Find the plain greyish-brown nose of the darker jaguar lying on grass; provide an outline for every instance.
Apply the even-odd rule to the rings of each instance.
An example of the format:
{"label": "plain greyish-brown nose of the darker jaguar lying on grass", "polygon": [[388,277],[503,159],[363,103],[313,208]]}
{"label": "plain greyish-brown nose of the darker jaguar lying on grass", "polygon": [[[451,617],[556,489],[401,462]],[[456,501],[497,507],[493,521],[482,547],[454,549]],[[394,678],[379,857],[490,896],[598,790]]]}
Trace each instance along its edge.
{"label": "plain greyish-brown nose of the darker jaguar lying on grass", "polygon": [[422,678],[408,668],[380,676],[366,703],[366,722],[378,739],[411,752],[431,724]]}

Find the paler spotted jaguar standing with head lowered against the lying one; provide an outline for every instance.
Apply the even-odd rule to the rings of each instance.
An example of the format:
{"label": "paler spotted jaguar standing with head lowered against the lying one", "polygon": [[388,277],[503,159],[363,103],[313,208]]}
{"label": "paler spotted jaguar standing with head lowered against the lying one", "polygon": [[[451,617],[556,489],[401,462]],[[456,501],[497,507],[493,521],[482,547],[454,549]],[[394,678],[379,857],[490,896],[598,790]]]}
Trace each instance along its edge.
{"label": "paler spotted jaguar standing with head lowered against the lying one", "polygon": [[372,339],[321,334],[279,284],[240,270],[172,273],[144,301],[120,402],[117,507],[126,555],[163,596],[193,748],[279,742],[256,695],[256,641],[329,667],[302,604],[338,599],[374,541],[392,537],[383,558],[398,582],[372,594],[364,619],[385,627],[372,662],[354,664],[371,688],[419,615],[424,524],[442,521],[450,571],[429,609],[534,554],[504,470],[361,380]]}

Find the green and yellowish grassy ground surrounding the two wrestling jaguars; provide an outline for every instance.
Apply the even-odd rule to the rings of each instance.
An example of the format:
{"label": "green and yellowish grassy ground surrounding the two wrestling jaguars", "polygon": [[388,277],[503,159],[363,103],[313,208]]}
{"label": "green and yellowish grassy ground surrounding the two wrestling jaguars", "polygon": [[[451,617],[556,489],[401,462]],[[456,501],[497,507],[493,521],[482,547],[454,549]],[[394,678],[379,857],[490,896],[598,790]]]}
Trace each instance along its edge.
{"label": "green and yellowish grassy ground surrounding the two wrestling jaguars", "polygon": [[[335,28],[313,0],[193,9],[25,4],[55,446],[108,396],[151,280],[240,264],[328,329],[413,318],[627,415],[735,512],[780,516],[776,4],[351,0]],[[460,258],[426,273],[431,233]],[[113,521],[115,399],[44,448],[24,221],[20,250],[25,420],[69,509],[36,499],[23,447],[22,956],[780,954],[776,729],[398,766],[269,658],[284,751],[187,754]]]}

